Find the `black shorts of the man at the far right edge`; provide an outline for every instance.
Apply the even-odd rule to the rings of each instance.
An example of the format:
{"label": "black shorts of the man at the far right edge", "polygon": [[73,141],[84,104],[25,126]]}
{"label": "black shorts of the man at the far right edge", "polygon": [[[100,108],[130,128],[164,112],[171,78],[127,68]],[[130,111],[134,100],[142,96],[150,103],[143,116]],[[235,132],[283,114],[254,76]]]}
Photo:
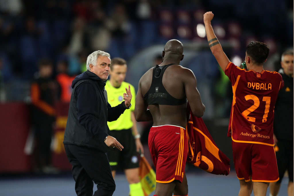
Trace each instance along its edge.
{"label": "black shorts of the man at the far right edge", "polygon": [[289,181],[293,182],[293,141],[279,140],[275,150],[280,178],[278,183],[282,181],[286,170]]}

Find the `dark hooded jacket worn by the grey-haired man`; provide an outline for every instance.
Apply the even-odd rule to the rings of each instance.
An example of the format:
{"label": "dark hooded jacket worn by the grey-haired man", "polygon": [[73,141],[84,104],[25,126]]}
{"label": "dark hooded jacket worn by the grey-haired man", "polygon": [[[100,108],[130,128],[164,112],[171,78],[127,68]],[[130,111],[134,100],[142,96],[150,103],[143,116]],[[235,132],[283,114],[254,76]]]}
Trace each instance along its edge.
{"label": "dark hooded jacket worn by the grey-haired man", "polygon": [[96,148],[106,152],[107,121],[113,121],[127,109],[124,101],[111,107],[104,89],[105,82],[95,73],[85,71],[76,76],[69,104],[64,144]]}

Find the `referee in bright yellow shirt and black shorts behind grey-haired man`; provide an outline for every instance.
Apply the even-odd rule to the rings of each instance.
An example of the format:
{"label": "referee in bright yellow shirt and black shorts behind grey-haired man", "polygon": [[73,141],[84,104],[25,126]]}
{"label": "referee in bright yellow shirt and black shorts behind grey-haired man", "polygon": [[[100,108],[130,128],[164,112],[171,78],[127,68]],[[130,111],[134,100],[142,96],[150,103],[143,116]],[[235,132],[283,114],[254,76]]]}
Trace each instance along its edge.
{"label": "referee in bright yellow shirt and black shorts behind grey-haired man", "polygon": [[138,152],[143,153],[143,146],[138,134],[136,120],[134,116],[135,109],[135,88],[124,82],[127,72],[126,61],[122,58],[113,58],[110,67],[110,79],[106,81],[105,89],[107,91],[108,103],[118,105],[123,101],[125,87],[131,86],[131,93],[134,95],[131,100],[131,108],[125,110],[123,114],[112,122],[107,122],[109,127],[108,134],[116,138],[123,145],[123,151],[108,150],[107,156],[111,166],[113,179],[117,169],[123,169],[126,174],[130,187],[131,196],[144,196],[141,182],[139,179]]}

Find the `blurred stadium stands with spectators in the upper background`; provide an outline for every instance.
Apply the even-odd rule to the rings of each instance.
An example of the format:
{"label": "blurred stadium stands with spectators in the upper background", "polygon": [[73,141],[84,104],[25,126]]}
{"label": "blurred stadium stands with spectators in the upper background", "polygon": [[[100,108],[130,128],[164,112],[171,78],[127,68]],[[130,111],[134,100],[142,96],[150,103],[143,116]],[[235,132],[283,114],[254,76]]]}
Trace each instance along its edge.
{"label": "blurred stadium stands with spectators in the upper background", "polygon": [[293,1],[287,0],[0,0],[0,100],[30,101],[30,81],[44,58],[53,64],[52,78],[70,77],[86,70],[95,50],[129,60],[172,38],[206,43],[205,11],[217,15],[215,33],[232,44],[231,56],[243,58],[248,41],[263,41],[270,69],[278,70],[280,53],[293,47]]}

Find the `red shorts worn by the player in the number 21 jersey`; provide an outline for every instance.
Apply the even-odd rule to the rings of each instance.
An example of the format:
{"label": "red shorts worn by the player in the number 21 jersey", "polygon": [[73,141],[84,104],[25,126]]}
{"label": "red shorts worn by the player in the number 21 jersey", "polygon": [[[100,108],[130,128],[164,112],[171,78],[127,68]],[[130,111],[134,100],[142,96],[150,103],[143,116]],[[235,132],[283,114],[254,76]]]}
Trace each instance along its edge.
{"label": "red shorts worn by the player in the number 21 jersey", "polygon": [[233,160],[239,180],[277,182],[277,160],[273,146],[232,141]]}

